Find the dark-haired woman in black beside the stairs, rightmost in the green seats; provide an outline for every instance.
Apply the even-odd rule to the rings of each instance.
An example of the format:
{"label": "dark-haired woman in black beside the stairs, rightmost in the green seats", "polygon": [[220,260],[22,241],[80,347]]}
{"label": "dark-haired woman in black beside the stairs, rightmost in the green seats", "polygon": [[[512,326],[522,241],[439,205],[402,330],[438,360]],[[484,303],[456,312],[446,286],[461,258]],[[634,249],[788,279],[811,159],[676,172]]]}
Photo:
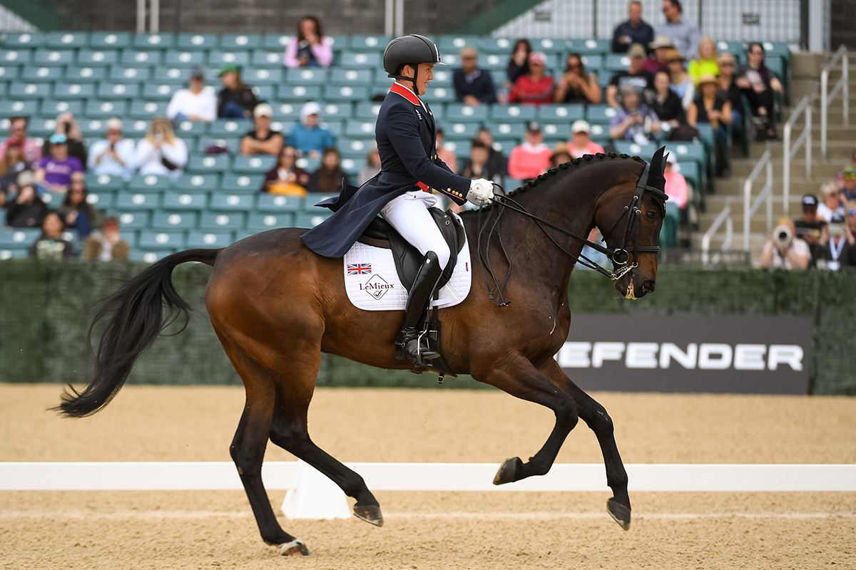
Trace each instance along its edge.
{"label": "dark-haired woman in black beside the stairs, rightmost in the green seats", "polygon": [[746,51],[747,62],[737,69],[736,83],[752,109],[752,123],[758,139],[778,138],[776,120],[773,117],[773,93],[782,92],[782,82],[776,73],[764,65],[764,46],[754,42]]}

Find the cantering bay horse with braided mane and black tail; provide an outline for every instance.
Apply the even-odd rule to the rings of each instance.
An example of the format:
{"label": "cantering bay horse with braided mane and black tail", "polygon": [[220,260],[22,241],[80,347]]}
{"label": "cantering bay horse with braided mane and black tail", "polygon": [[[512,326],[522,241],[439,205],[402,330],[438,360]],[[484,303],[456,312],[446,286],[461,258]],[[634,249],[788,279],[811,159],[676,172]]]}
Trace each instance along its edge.
{"label": "cantering bay horse with braided mane and black tail", "polygon": [[[603,451],[613,497],[609,514],[630,526],[627,473],[606,410],[568,379],[554,356],[568,337],[568,279],[595,226],[601,229],[622,297],[654,291],[657,250],[665,214],[663,149],[647,164],[638,156],[586,155],[552,168],[482,211],[465,212],[472,259],[496,274],[510,273],[506,303],[490,300],[473,271],[463,303],[440,311],[443,359],[450,373],[469,373],[514,397],[550,408],[556,424],[529,461],[502,463],[501,485],[550,470],[568,433],[582,418]],[[502,204],[505,204],[504,206]],[[499,232],[479,231],[481,216],[504,209]],[[498,220],[498,218],[495,218]],[[103,300],[94,378],[82,391],[62,395],[58,411],[83,417],[104,408],[128,378],[134,360],[175,317],[192,310],[170,280],[175,266],[201,261],[213,267],[205,307],[217,338],[246,389],[246,405],[230,453],[265,543],[282,555],[309,550],[276,521],[261,467],[268,439],[324,473],[353,497],[354,515],[383,525],[377,500],[359,474],[312,443],[306,412],[321,353],[374,367],[407,368],[395,360],[398,311],[356,309],[343,294],[342,259],[314,254],[300,228],[282,228],[242,239],[220,250],[187,250],[147,267]],[[503,239],[504,237],[504,239]],[[480,253],[480,257],[479,257]],[[480,291],[480,292],[479,292]],[[511,301],[511,303],[508,303]],[[168,309],[167,315],[163,308]],[[502,332],[502,334],[497,334]]]}

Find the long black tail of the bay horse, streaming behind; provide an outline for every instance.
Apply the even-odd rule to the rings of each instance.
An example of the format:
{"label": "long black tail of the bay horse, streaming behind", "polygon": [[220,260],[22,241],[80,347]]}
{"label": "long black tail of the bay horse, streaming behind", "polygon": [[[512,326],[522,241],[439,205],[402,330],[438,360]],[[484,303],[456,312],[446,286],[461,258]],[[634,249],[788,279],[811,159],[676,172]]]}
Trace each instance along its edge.
{"label": "long black tail of the bay horse, streaming behind", "polygon": [[[154,344],[158,334],[181,315],[187,326],[192,309],[175,292],[170,279],[172,270],[187,261],[213,266],[219,251],[187,250],[164,257],[105,297],[89,327],[88,340],[92,349],[96,326],[107,320],[95,355],[95,378],[80,392],[68,385],[68,390],[62,394],[62,403],[55,410],[69,417],[82,418],[110,403],[128,379],[134,361]],[[166,319],[163,308],[167,309]]]}

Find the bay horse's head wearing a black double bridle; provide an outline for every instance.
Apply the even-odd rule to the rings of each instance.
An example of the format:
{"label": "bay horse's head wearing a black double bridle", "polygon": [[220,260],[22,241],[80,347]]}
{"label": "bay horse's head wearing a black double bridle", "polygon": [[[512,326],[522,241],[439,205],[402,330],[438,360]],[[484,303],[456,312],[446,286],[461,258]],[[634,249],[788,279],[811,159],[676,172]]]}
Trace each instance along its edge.
{"label": "bay horse's head wearing a black double bridle", "polygon": [[654,292],[667,199],[663,150],[654,153],[638,179],[615,185],[597,204],[595,221],[614,252],[610,260],[614,271],[621,275],[615,289],[628,299]]}

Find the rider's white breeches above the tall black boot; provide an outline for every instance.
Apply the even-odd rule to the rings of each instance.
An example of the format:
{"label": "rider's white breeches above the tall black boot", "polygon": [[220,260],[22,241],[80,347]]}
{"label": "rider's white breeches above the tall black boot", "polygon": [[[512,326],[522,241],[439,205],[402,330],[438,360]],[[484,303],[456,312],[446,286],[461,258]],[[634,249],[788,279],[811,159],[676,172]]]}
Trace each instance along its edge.
{"label": "rider's white breeches above the tall black boot", "polygon": [[423,256],[429,251],[436,253],[440,267],[445,268],[451,255],[449,245],[428,213],[428,209],[436,203],[437,197],[433,194],[409,191],[390,200],[380,214]]}

